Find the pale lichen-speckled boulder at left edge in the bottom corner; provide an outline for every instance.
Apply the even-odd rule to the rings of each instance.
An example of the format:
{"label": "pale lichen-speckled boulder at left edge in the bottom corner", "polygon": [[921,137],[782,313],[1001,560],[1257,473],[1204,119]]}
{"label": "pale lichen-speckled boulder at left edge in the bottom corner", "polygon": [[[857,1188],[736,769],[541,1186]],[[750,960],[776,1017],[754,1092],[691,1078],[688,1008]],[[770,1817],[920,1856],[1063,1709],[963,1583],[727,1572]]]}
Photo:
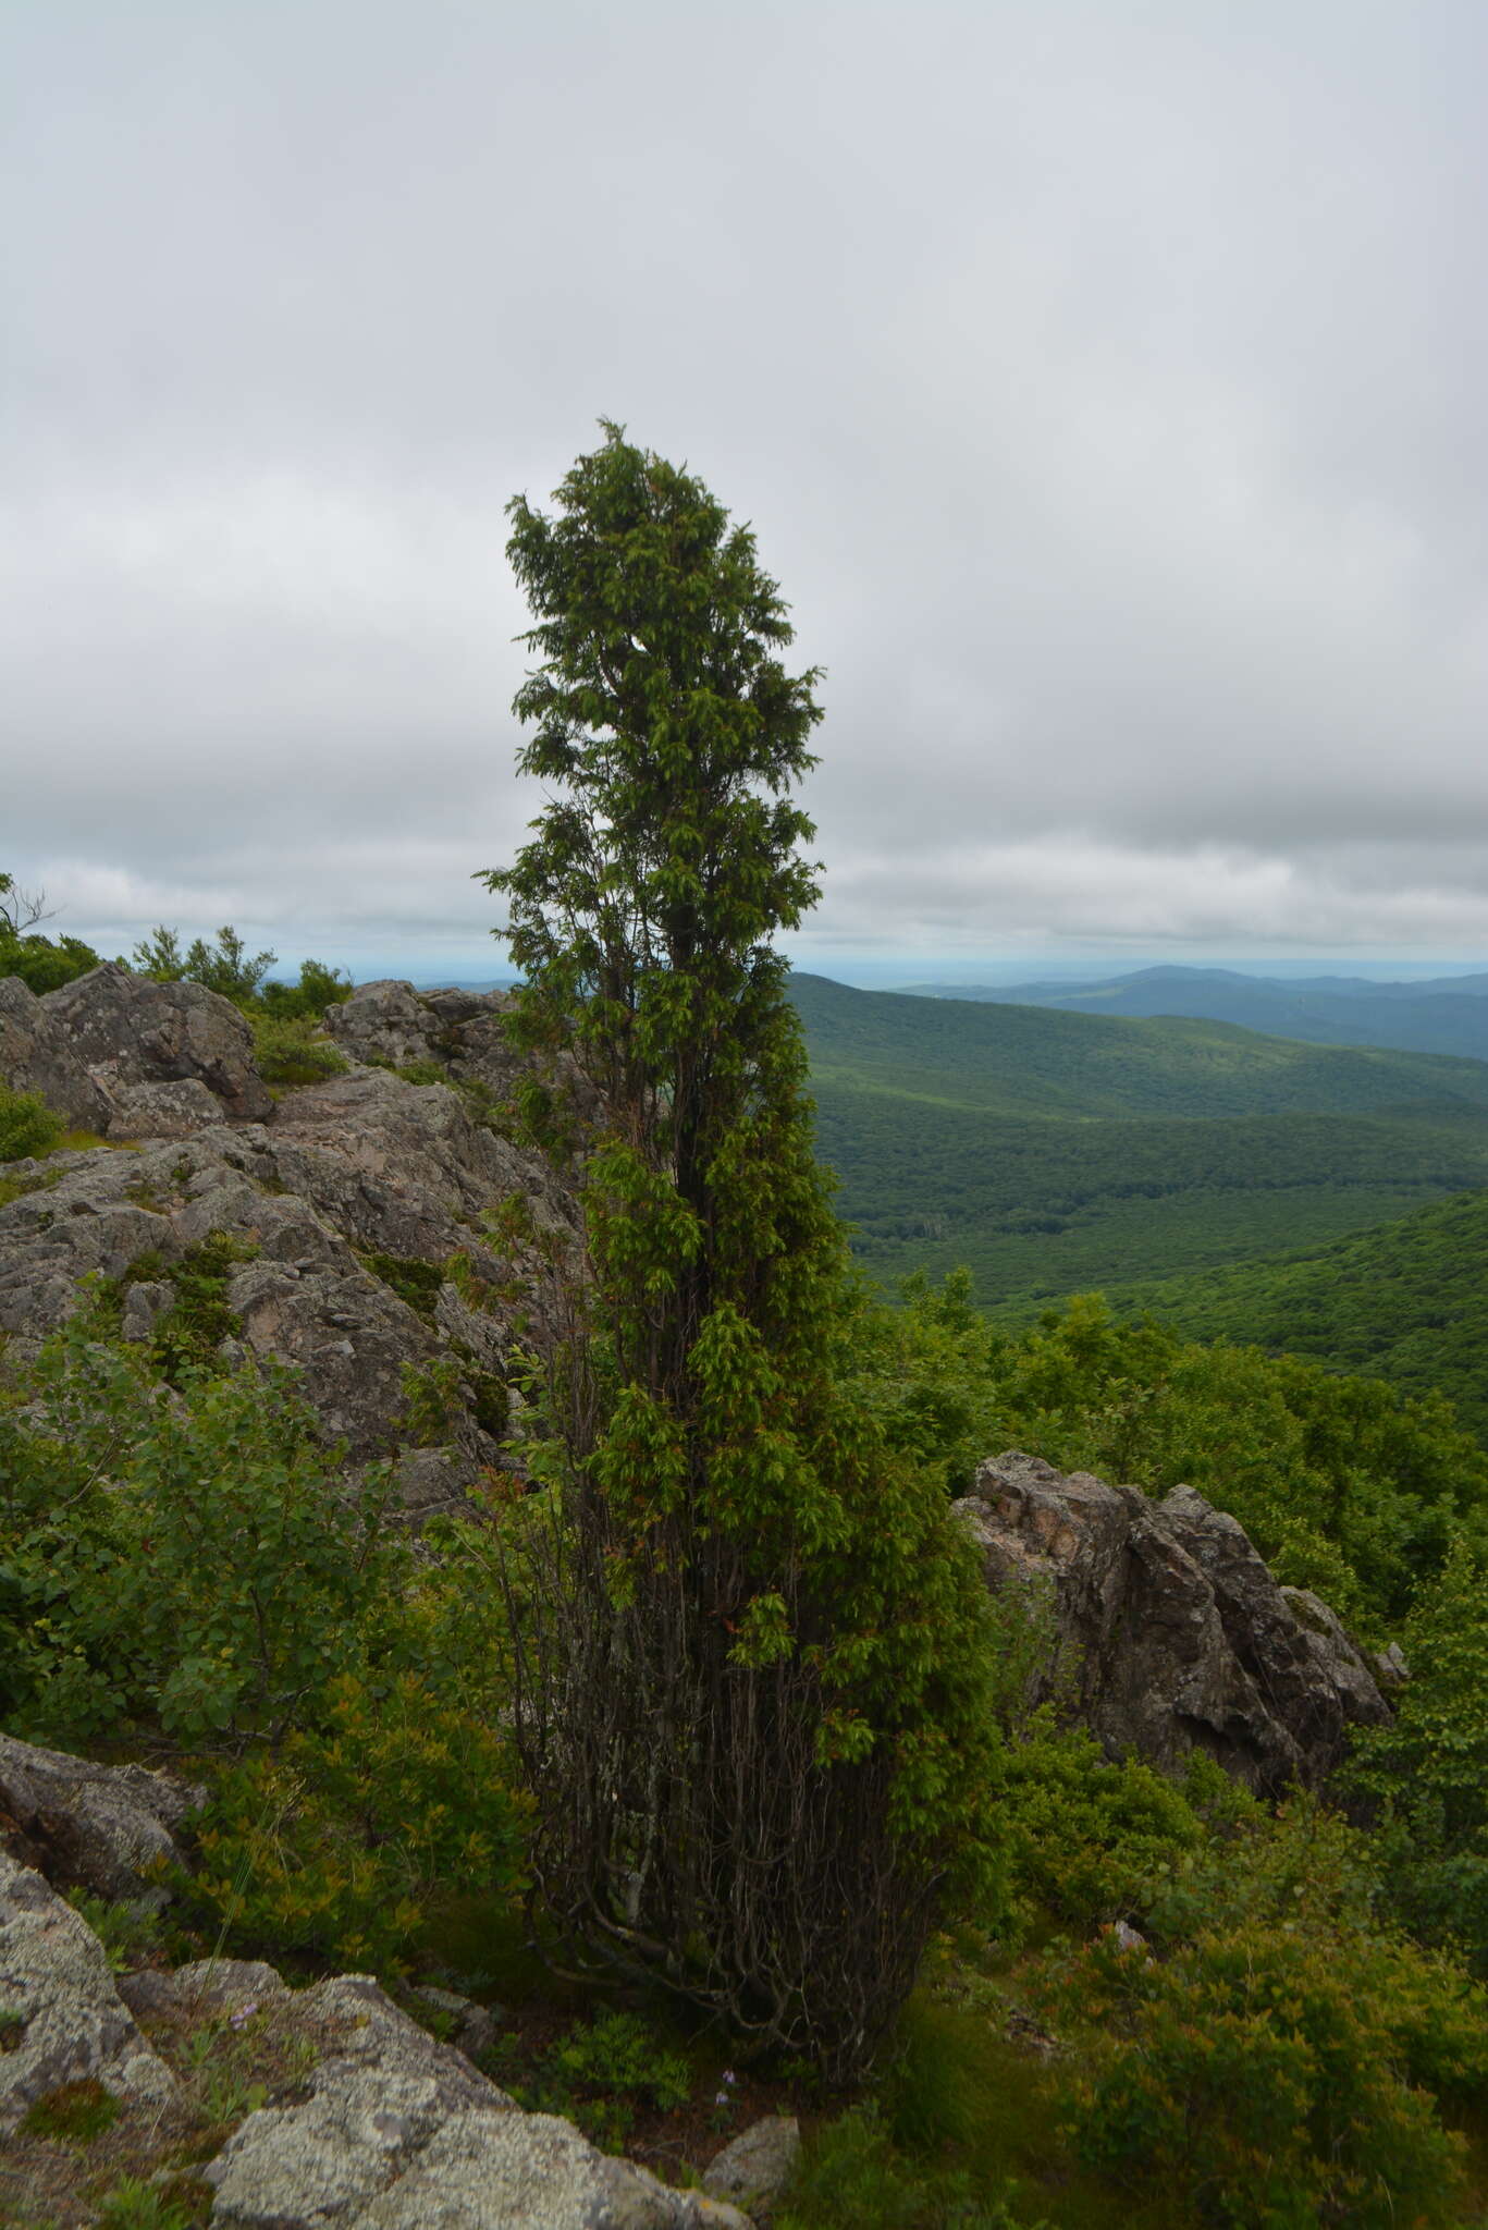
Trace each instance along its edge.
{"label": "pale lichen-speckled boulder at left edge in the bottom corner", "polygon": [[118,1996],[103,1945],[40,1873],[0,1851],[0,2136],[65,2083],[167,2105],[176,2083]]}

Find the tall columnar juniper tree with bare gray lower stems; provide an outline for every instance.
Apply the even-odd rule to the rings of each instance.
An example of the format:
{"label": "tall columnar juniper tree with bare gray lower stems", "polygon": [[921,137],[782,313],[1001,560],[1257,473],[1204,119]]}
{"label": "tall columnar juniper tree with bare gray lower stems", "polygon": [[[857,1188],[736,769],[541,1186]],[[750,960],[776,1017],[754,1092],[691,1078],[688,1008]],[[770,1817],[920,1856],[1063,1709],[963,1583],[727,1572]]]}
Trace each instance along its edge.
{"label": "tall columnar juniper tree with bare gray lower stems", "polygon": [[605,426],[509,555],[518,754],[549,801],[484,876],[513,1035],[598,1088],[582,1320],[518,1632],[535,1875],[569,1942],[859,2063],[988,1855],[986,1621],[944,1494],[854,1414],[852,1289],[788,968],[817,899],[819,673],[754,535]]}

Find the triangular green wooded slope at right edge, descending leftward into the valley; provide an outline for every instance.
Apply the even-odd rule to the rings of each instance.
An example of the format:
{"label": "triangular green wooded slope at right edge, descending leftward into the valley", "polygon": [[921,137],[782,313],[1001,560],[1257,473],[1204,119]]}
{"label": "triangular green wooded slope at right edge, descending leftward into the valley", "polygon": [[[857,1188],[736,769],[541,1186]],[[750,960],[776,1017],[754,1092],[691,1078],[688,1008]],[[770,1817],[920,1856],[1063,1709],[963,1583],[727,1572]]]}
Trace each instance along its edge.
{"label": "triangular green wooded slope at right edge, descending leftward into the valley", "polygon": [[1446,1394],[1488,1441],[1488,1193],[1307,1253],[1115,1287],[1111,1300],[1200,1340],[1254,1340],[1412,1394]]}

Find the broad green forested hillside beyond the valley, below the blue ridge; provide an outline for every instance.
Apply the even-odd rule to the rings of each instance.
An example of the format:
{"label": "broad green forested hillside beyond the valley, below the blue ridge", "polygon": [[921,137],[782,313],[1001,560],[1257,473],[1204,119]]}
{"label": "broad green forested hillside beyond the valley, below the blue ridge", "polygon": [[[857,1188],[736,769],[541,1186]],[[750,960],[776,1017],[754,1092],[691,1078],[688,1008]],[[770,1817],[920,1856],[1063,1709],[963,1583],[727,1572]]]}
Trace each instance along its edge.
{"label": "broad green forested hillside beyond the valley, below the blue ridge", "polygon": [[1488,1184],[1488,1066],[796,977],[819,1148],[883,1284],[993,1313],[1321,1247]]}

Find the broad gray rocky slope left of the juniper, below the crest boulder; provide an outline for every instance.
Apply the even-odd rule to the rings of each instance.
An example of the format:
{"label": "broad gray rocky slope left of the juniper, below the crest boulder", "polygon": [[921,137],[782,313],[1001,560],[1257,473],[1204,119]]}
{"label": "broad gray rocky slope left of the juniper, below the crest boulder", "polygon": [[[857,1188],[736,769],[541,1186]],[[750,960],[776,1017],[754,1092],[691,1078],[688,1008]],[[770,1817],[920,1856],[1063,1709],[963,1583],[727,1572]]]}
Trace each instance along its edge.
{"label": "broad gray rocky slope left of the juniper, below the crest boulder", "polygon": [[[172,1271],[225,1233],[243,1255],[225,1291],[241,1349],[297,1365],[352,1456],[408,1438],[408,1365],[453,1367],[442,1454],[413,1450],[399,1472],[417,1505],[500,1461],[511,1356],[549,1305],[540,1258],[578,1247],[573,1195],[544,1162],[471,1122],[448,1086],[379,1068],[288,1093],[272,1126],[11,1166],[36,1182],[0,1209],[0,1334],[18,1351],[78,1307],[89,1273],[123,1284],[123,1331],[149,1340]],[[486,1218],[513,1198],[522,1235],[497,1238]]]}

